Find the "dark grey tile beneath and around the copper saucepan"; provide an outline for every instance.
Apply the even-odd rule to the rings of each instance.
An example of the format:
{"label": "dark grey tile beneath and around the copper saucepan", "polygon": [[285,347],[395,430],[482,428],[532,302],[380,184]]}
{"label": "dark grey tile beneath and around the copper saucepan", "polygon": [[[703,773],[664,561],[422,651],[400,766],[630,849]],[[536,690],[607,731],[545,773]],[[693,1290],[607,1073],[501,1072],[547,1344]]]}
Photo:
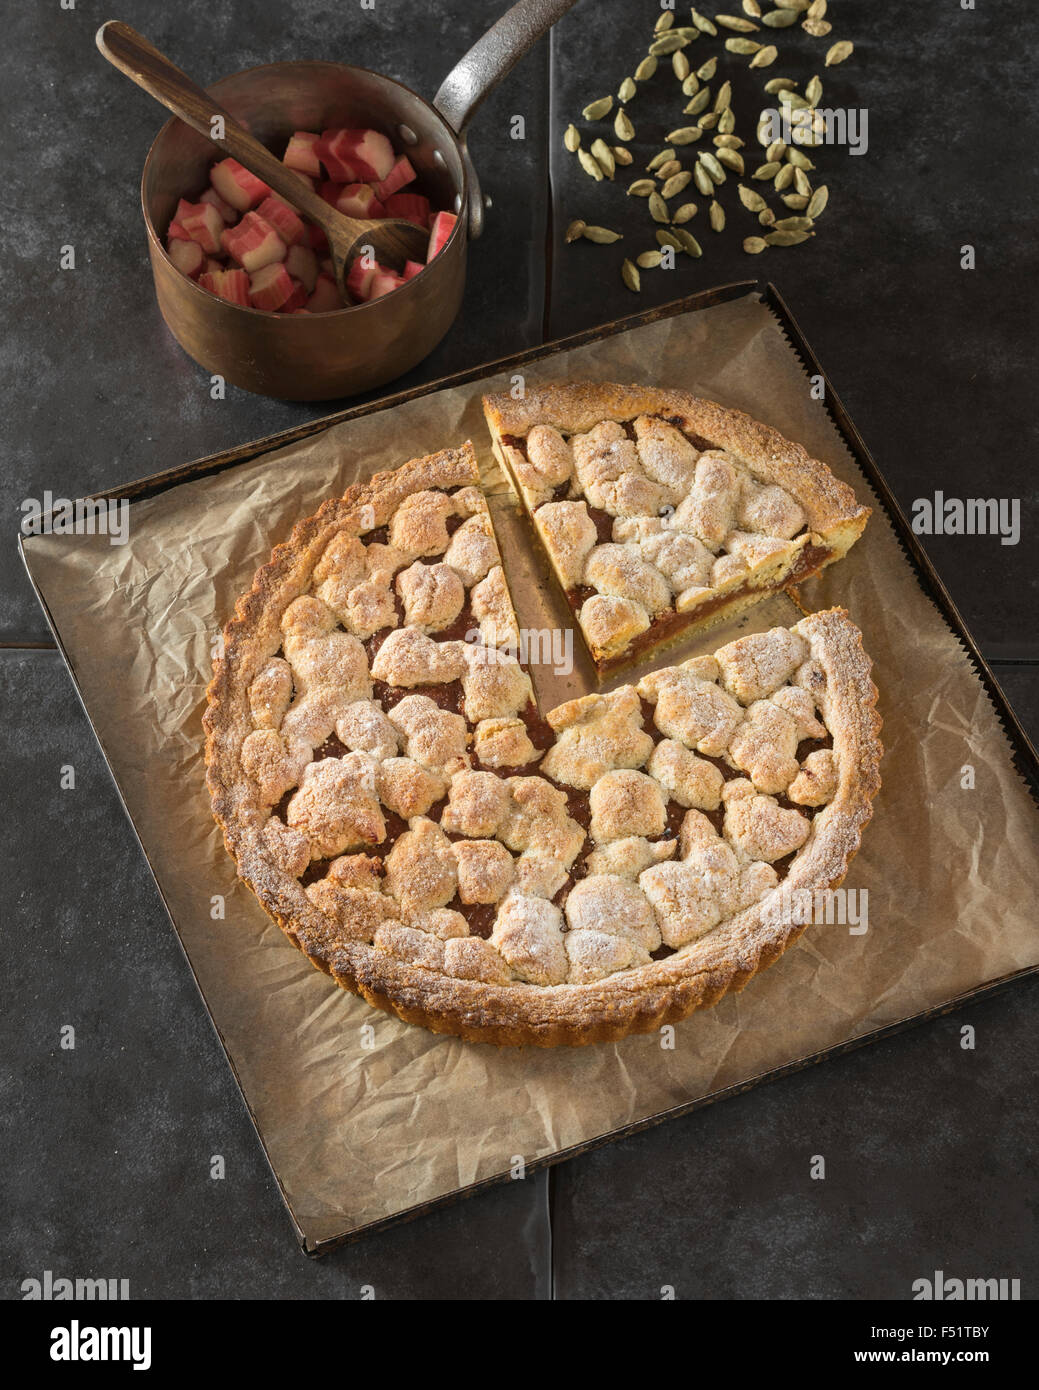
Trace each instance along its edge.
{"label": "dark grey tile beneath and around the copper saucepan", "polygon": [[[499,0],[378,0],[374,10],[327,0],[292,0],[288,10],[255,0],[127,0],[118,13],[203,85],[260,63],[331,58],[384,71],[431,99],[502,8]],[[93,36],[104,17],[82,3],[68,11],[19,6],[6,17],[0,373],[18,434],[8,434],[0,484],[8,518],[0,641],[46,637],[13,543],[22,499],[113,488],[335,409],[232,386],[225,400],[211,400],[209,374],[167,332],[139,211],[140,168],[164,113],[97,53]],[[526,118],[524,140],[510,138],[515,114]],[[541,341],[547,126],[541,44],[491,93],[470,129],[494,208],[470,250],[462,313],[392,389]],[[76,249],[75,271],[58,270],[67,243]]]}

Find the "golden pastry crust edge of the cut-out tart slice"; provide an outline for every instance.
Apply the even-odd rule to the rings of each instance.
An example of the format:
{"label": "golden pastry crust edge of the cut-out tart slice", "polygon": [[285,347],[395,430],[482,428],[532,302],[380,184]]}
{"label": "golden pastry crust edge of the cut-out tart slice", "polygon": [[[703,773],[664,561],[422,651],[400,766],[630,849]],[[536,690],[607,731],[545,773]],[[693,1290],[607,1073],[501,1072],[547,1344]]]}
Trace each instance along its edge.
{"label": "golden pastry crust edge of the cut-out tart slice", "polygon": [[[566,382],[537,388],[520,400],[509,395],[484,396],[484,414],[494,452],[509,471],[548,552],[556,581],[577,617],[577,626],[601,676],[630,666],[694,631],[734,617],[769,594],[816,574],[847,555],[871,514],[869,507],[857,502],[853,489],[836,478],[825,463],[812,459],[801,445],[743,411],[683,391]],[[727,457],[737,466],[740,478],[752,480],[754,485],[782,489],[787,500],[793,499],[801,509],[804,524],[798,534],[786,539],[786,543],[769,539],[769,535],[740,535],[733,541],[740,548],[739,552],[730,552],[727,542],[716,543],[712,546],[714,553],[726,559],[733,556],[729,567],[715,566],[709,581],[704,580],[682,594],[676,589],[670,606],[663,612],[647,613],[637,600],[631,603],[629,599],[604,602],[593,598],[590,603],[587,599],[583,603],[580,595],[588,592],[588,585],[599,594],[604,591],[591,580],[586,580],[586,589],[576,587],[573,549],[566,553],[561,549],[554,534],[556,517],[549,524],[549,514],[545,513],[541,518],[538,513],[549,500],[583,503],[587,492],[576,474],[570,473],[566,482],[551,489],[549,496],[547,486],[537,485],[537,480],[531,481],[524,449],[531,431],[537,428],[547,427],[565,441],[573,441],[574,436],[595,431],[604,421],[625,424],[630,434],[631,423],[640,417],[673,427],[704,455]],[[631,453],[633,448],[629,457]],[[559,475],[559,471],[551,473],[549,481]],[[615,541],[619,516],[629,518],[629,530],[637,524],[631,521],[630,509],[623,510],[623,502],[619,506],[622,512],[612,513]],[[604,518],[609,521],[599,512],[599,520]],[[573,518],[567,520],[573,523]],[[648,512],[643,520],[648,525],[655,524]],[[599,535],[599,545],[602,541],[604,537]],[[629,543],[629,550],[637,546]],[[580,552],[577,563],[583,563]],[[633,596],[643,592],[637,577],[631,582],[631,591]]]}

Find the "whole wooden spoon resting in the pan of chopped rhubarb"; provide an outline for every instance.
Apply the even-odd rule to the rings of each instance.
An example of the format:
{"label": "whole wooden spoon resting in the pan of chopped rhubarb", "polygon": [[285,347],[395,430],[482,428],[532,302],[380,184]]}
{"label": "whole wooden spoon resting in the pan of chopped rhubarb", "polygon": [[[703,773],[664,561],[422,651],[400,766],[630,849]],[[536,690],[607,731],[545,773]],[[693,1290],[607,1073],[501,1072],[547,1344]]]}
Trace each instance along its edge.
{"label": "whole wooden spoon resting in the pan of chopped rhubarb", "polygon": [[[351,303],[346,295],[346,271],[362,246],[371,246],[376,259],[392,265],[394,270],[401,270],[406,260],[426,263],[428,232],[423,232],[412,222],[376,221],[337,213],[319,197],[305,178],[275,158],[223,106],[218,106],[207,92],[196,86],[128,24],[120,19],[103,24],[97,31],[97,47],[108,63],[132,78],[156,101],[161,101],[186,125],[211,139],[218,149],[236,158],[250,174],[261,178],[312,222],[317,222],[328,238],[335,279],[344,303]],[[223,120],[221,138],[213,133],[213,117]]]}

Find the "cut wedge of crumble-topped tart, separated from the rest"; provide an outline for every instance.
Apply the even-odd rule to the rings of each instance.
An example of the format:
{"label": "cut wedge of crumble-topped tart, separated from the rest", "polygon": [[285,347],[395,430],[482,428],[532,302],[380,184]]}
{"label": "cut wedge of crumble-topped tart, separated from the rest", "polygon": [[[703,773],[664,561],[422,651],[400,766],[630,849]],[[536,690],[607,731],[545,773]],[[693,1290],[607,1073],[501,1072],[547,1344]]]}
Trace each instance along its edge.
{"label": "cut wedge of crumble-topped tart, separated from the rest", "polygon": [[484,413],[599,674],[816,574],[869,518],[801,445],[682,391],[567,382]]}

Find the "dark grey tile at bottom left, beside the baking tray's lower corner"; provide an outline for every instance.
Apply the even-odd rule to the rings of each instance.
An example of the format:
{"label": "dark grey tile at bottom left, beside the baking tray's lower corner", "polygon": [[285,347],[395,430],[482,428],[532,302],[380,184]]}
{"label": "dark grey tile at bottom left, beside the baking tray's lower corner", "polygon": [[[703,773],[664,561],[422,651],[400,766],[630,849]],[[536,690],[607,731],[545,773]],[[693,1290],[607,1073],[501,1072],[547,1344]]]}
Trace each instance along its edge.
{"label": "dark grey tile at bottom left, beside the baking tray's lower corner", "polygon": [[18,730],[4,749],[0,1298],[45,1269],[153,1298],[547,1297],[547,1175],[320,1261],[295,1251],[61,659],[0,652],[0,692]]}

